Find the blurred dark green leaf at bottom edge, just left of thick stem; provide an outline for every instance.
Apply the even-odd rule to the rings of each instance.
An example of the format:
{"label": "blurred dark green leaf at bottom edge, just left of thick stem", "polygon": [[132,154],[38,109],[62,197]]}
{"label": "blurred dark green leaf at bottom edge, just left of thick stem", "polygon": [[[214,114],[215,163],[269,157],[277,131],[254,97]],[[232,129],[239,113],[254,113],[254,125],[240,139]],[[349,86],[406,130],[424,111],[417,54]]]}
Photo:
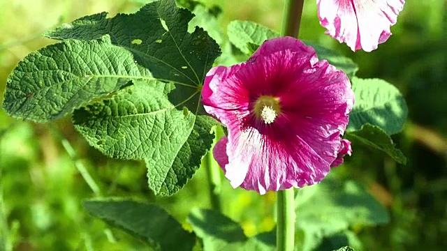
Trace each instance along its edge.
{"label": "blurred dark green leaf at bottom edge, just left of thick stem", "polygon": [[195,208],[188,215],[188,222],[203,239],[203,250],[276,250],[276,231],[247,239],[237,222],[217,211]]}

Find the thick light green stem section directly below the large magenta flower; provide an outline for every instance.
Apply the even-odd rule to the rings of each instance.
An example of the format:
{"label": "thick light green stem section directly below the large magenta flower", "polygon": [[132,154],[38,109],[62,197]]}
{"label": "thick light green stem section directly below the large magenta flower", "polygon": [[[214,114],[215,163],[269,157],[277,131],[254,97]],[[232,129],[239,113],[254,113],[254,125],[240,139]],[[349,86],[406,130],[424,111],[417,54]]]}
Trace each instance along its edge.
{"label": "thick light green stem section directly below the large magenta flower", "polygon": [[277,250],[292,251],[295,241],[293,188],[277,192]]}

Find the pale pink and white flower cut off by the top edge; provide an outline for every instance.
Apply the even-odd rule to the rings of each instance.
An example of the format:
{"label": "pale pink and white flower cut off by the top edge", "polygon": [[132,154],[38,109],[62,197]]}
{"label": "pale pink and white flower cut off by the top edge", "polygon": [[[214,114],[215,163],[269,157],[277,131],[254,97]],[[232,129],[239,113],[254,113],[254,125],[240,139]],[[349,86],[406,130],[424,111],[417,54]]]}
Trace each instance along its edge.
{"label": "pale pink and white flower cut off by the top edge", "polygon": [[317,0],[320,24],[326,34],[351,50],[371,52],[390,36],[390,26],[404,8],[404,0]]}

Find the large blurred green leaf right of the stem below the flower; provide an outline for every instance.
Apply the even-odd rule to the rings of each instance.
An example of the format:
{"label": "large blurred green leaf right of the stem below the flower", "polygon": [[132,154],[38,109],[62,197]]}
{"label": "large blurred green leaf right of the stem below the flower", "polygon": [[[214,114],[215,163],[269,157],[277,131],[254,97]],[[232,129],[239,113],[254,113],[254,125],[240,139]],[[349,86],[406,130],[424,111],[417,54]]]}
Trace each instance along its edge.
{"label": "large blurred green leaf right of the stem below the flower", "polygon": [[390,220],[386,208],[354,181],[325,178],[318,185],[301,188],[295,204],[300,219],[297,229],[305,233],[305,250],[313,250],[325,238],[353,225],[378,225]]}

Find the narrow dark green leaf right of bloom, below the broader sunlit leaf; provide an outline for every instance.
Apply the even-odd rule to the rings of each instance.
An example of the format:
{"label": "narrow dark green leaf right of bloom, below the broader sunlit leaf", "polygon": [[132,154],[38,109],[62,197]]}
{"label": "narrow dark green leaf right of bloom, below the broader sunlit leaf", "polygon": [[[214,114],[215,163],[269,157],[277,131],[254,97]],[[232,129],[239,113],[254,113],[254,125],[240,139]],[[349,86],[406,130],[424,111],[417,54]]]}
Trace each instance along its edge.
{"label": "narrow dark green leaf right of bloom, below the broader sunlit leaf", "polygon": [[396,162],[406,165],[406,157],[404,153],[395,148],[393,139],[391,139],[391,137],[378,126],[372,126],[367,123],[356,132],[346,133],[346,138],[352,142],[358,141],[362,144],[372,146],[375,149],[379,149],[388,154]]}

